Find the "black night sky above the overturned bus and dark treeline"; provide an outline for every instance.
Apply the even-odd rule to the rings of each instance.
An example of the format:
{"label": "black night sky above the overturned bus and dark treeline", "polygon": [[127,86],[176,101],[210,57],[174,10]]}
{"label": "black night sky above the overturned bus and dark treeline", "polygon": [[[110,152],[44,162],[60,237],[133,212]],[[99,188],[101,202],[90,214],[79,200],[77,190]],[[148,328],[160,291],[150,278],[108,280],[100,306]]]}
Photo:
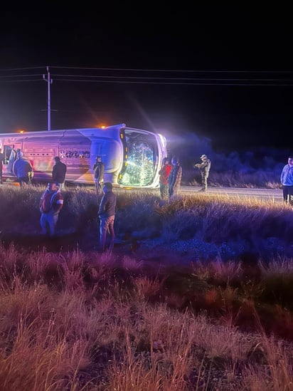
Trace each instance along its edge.
{"label": "black night sky above the overturned bus and dark treeline", "polygon": [[52,129],[125,122],[215,150],[288,147],[289,8],[191,5],[1,12],[0,132],[46,129],[49,66]]}

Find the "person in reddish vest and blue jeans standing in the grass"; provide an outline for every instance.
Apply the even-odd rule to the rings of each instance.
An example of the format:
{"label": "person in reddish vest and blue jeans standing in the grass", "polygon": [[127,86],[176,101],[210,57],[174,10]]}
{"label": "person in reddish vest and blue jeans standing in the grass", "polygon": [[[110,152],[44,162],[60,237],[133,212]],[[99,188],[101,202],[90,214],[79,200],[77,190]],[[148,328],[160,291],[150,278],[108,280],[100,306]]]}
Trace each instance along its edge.
{"label": "person in reddish vest and blue jeans standing in the grass", "polygon": [[58,182],[48,183],[48,187],[40,199],[42,234],[48,234],[49,236],[55,235],[55,226],[62,208],[63,195],[60,193]]}

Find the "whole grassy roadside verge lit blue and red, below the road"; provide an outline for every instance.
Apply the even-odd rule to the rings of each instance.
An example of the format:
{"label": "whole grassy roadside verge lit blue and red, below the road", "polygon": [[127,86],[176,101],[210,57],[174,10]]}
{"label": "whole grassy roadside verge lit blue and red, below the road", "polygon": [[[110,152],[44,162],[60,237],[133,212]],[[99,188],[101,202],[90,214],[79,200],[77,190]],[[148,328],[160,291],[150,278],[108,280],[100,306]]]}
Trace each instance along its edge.
{"label": "whole grassy roadside verge lit blue and red, below the road", "polygon": [[94,190],[46,239],[43,187],[0,187],[1,390],[292,390],[292,207],[114,191],[101,254]]}

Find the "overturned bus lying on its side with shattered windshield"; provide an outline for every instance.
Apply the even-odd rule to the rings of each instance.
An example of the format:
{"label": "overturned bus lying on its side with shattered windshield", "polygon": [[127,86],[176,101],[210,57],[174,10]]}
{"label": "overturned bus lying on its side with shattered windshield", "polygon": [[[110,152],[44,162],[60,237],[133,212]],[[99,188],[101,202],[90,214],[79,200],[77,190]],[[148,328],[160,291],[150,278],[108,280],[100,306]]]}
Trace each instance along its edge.
{"label": "overturned bus lying on its side with shattered windshield", "polygon": [[11,172],[11,149],[21,150],[33,165],[34,181],[52,177],[53,157],[67,165],[66,182],[93,184],[92,167],[100,155],[105,163],[105,182],[121,187],[157,187],[159,169],[166,157],[166,139],[158,133],[126,127],[0,133],[4,153],[3,179],[15,182]]}

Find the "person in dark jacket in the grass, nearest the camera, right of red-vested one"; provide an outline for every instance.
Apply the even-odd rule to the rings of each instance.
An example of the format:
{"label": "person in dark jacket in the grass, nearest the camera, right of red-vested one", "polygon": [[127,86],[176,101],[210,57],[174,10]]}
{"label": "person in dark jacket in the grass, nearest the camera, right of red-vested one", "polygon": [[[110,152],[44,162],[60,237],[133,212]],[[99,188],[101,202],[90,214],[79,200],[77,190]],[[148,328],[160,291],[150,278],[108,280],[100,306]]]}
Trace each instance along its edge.
{"label": "person in dark jacket in the grass, nearest the camera, right of red-vested one", "polygon": [[112,251],[114,246],[114,219],[115,219],[115,209],[117,197],[112,192],[112,183],[105,182],[102,191],[104,195],[102,196],[99,212],[97,212],[100,219],[100,249],[105,251],[106,241],[107,241],[107,232],[109,232],[110,239],[110,251]]}

